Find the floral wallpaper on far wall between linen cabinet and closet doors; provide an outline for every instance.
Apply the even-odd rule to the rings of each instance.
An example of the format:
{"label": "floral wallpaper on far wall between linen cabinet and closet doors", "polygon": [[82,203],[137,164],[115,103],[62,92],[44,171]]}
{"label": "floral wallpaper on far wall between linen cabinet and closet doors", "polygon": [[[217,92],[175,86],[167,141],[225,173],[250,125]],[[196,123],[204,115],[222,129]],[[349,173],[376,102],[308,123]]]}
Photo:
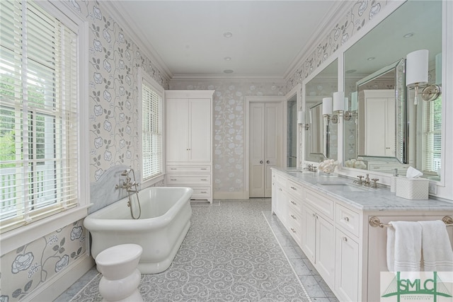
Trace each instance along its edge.
{"label": "floral wallpaper on far wall between linen cabinet and closet doors", "polygon": [[285,95],[284,83],[172,81],[171,89],[210,89],[214,93],[215,192],[244,192],[245,95]]}

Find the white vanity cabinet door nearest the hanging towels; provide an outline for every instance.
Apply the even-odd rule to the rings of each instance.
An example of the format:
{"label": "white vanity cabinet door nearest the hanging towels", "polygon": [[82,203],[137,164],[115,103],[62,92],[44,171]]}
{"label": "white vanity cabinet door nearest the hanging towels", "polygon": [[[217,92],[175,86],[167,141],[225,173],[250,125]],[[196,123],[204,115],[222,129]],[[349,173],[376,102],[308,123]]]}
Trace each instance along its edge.
{"label": "white vanity cabinet door nearest the hanging towels", "polygon": [[359,244],[336,230],[335,291],[340,301],[359,301]]}

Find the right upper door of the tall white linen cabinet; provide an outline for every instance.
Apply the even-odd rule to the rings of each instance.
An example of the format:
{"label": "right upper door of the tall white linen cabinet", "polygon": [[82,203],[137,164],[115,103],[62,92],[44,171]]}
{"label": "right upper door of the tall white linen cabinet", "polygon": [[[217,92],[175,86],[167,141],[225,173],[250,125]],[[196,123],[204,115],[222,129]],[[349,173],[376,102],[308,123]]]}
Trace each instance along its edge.
{"label": "right upper door of the tall white linen cabinet", "polygon": [[[211,161],[211,102],[210,99],[189,100],[189,161]],[[183,123],[178,123],[183,127]]]}

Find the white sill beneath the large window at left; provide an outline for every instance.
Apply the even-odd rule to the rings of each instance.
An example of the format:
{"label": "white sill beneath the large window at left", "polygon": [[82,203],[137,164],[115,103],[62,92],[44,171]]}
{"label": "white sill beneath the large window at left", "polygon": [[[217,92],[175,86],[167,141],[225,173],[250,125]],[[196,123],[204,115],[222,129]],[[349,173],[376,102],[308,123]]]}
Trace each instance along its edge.
{"label": "white sill beneath the large window at left", "polygon": [[68,226],[74,221],[84,219],[88,215],[88,207],[91,207],[91,204],[69,209],[60,214],[40,219],[26,226],[21,226],[20,228],[1,234],[0,255],[3,256],[6,253],[11,252],[11,250],[16,250],[59,228]]}

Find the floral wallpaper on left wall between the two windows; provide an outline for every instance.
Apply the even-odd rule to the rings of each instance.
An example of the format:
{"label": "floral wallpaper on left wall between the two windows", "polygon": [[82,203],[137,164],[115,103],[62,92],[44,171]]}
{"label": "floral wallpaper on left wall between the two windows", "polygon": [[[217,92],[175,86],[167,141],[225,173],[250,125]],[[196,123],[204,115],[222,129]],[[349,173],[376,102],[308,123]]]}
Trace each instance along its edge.
{"label": "floral wallpaper on left wall between the two windows", "polygon": [[[70,1],[89,22],[90,178],[127,165],[141,170],[138,69],[168,88],[168,79],[127,36],[100,1]],[[140,103],[141,104],[141,103]]]}

